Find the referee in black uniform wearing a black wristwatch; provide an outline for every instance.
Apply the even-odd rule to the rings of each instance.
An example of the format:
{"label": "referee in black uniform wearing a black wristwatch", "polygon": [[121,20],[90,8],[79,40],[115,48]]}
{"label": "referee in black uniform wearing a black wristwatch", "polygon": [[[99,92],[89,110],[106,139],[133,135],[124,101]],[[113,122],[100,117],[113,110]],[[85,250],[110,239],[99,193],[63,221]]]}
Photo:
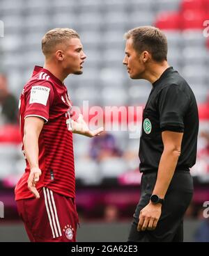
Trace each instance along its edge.
{"label": "referee in black uniform wearing a black wristwatch", "polygon": [[167,63],[167,38],[153,26],[125,34],[123,64],[131,79],[153,88],[139,147],[141,198],[128,241],[183,241],[183,216],[192,200],[189,168],[196,161],[199,117],[191,88]]}

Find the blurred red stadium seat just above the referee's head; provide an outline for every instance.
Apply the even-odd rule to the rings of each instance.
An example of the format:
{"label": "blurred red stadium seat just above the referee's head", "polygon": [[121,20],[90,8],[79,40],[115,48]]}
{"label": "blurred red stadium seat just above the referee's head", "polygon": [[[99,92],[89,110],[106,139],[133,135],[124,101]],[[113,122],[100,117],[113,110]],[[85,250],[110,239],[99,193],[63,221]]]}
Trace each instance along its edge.
{"label": "blurred red stadium seat just above the referee's head", "polygon": [[157,16],[155,26],[159,29],[180,29],[180,15],[176,12],[160,13]]}

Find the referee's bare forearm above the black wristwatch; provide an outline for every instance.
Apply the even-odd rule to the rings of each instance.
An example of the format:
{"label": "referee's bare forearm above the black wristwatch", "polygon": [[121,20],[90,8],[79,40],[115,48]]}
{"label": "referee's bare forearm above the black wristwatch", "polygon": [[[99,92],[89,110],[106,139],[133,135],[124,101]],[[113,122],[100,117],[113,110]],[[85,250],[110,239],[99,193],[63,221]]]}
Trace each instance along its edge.
{"label": "referee's bare forearm above the black wristwatch", "polygon": [[160,198],[164,198],[167,193],[179,155],[180,153],[177,150],[167,150],[162,153],[157,172],[157,181],[153,190],[153,194],[159,195]]}

